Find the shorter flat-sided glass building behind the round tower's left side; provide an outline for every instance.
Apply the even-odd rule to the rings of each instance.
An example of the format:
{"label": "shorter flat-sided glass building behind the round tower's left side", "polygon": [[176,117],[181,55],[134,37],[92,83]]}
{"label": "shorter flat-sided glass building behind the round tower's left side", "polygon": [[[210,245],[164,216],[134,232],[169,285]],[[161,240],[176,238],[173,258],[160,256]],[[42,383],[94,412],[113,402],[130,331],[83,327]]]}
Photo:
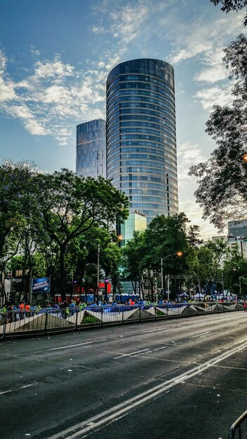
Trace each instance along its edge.
{"label": "shorter flat-sided glass building behind the round tower's left side", "polygon": [[76,174],[106,178],[106,134],[102,119],[76,126]]}

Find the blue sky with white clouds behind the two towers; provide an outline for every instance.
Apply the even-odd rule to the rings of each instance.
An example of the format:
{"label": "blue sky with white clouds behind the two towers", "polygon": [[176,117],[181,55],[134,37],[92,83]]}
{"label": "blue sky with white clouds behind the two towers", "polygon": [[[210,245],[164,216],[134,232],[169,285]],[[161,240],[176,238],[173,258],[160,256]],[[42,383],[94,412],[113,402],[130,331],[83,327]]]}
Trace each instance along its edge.
{"label": "blue sky with white clouds behind the two towers", "polygon": [[204,132],[213,104],[229,102],[222,48],[244,32],[243,12],[209,0],[0,0],[0,160],[75,170],[76,125],[105,119],[105,81],[135,58],[175,69],[180,211],[201,219],[189,166],[215,144]]}

